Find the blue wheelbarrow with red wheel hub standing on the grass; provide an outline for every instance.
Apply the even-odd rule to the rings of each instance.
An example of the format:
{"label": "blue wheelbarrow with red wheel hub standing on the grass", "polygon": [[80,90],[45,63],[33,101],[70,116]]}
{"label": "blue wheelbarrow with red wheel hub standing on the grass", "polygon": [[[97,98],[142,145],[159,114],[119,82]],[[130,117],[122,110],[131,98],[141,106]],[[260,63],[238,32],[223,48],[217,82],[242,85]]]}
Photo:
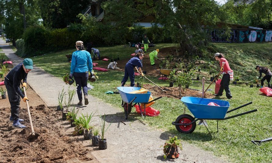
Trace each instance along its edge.
{"label": "blue wheelbarrow with red wheel hub standing on the grass", "polygon": [[[238,117],[244,114],[252,113],[257,111],[257,109],[236,114],[234,116],[225,117],[227,113],[230,113],[234,110],[240,109],[244,106],[252,104],[249,102],[237,108],[231,109],[228,111],[230,107],[230,103],[228,101],[209,99],[209,98],[198,98],[198,97],[182,97],[181,101],[187,106],[190,112],[193,114],[192,117],[189,114],[181,114],[178,116],[175,122],[172,122],[173,125],[176,126],[176,129],[182,133],[192,133],[196,129],[196,121],[197,120],[217,120],[217,132],[218,132],[218,120],[227,120],[230,118]],[[211,106],[208,105],[210,102],[214,102],[219,106]],[[207,128],[206,124],[204,123]],[[207,128],[208,130],[208,128]],[[209,132],[209,130],[208,130]],[[210,133],[210,132],[209,132]]]}

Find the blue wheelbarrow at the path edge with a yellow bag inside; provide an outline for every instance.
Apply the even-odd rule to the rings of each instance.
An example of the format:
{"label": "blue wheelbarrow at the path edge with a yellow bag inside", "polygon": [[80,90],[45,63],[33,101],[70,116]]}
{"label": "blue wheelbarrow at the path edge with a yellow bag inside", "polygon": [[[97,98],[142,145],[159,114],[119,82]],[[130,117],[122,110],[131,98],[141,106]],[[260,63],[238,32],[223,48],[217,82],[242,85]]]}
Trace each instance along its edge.
{"label": "blue wheelbarrow at the path edge with a yellow bag inside", "polygon": [[[137,104],[140,108],[140,113],[141,113],[142,117],[143,116],[145,117],[146,116],[145,105],[162,98],[162,97],[158,97],[152,101],[149,101],[149,98],[151,95],[151,92],[149,92],[149,91],[145,94],[130,93],[132,91],[140,90],[141,89],[140,87],[117,87],[117,89],[122,97],[122,107],[124,108],[126,119],[129,114],[138,114],[137,112],[131,113],[132,107],[134,107]],[[134,102],[134,104],[132,104],[133,102]],[[144,104],[144,112],[142,112],[142,108],[141,108],[140,103]]]}

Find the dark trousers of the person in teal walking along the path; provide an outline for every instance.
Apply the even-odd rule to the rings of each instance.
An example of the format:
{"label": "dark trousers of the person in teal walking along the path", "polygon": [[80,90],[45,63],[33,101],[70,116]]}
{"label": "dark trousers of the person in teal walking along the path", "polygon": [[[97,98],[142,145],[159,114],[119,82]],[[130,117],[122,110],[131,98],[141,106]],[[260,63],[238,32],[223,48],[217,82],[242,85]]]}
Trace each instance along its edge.
{"label": "dark trousers of the person in teal walking along the path", "polygon": [[81,87],[83,88],[83,94],[88,94],[88,87],[87,87],[87,80],[89,73],[88,72],[74,72],[73,74],[75,78],[75,84],[77,86],[76,92],[79,100],[82,100],[82,91]]}

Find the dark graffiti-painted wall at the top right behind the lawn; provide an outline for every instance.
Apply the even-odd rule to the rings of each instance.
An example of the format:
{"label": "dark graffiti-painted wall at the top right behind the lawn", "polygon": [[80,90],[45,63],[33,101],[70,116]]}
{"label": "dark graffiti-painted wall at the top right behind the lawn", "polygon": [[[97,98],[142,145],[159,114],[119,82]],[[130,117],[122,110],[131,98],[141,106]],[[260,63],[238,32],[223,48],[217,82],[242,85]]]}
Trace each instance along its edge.
{"label": "dark graffiti-painted wall at the top right behind the lawn", "polygon": [[232,29],[229,38],[222,37],[224,30],[207,30],[213,43],[272,42],[272,30]]}

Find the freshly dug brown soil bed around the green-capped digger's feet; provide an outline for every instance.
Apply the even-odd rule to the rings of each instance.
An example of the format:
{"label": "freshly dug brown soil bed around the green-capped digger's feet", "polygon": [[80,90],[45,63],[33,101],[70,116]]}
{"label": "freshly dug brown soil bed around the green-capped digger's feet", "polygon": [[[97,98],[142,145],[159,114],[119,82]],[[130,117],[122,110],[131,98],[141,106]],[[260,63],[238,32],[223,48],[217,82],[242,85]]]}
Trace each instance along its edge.
{"label": "freshly dug brown soil bed around the green-capped digger's feet", "polygon": [[89,150],[82,147],[82,143],[66,136],[65,128],[57,124],[61,112],[44,105],[30,107],[30,112],[34,131],[40,135],[34,142],[28,142],[31,128],[25,108],[20,109],[20,118],[27,125],[23,130],[12,128],[10,108],[0,109],[0,162],[81,162],[94,159],[86,156]]}

